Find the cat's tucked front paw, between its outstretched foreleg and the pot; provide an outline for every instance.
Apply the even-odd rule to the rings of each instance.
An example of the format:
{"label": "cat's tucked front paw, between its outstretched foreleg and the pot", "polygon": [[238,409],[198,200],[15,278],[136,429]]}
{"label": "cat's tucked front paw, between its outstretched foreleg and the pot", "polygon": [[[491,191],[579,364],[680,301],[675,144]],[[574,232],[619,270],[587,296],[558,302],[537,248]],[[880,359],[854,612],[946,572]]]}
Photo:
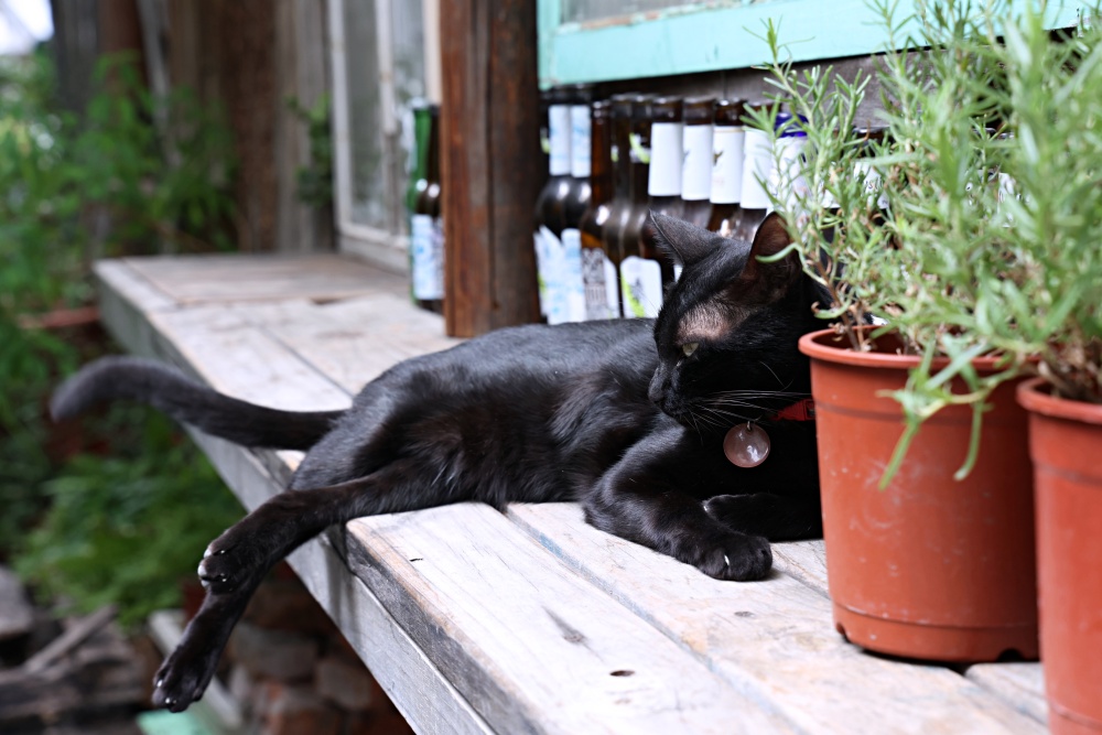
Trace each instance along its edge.
{"label": "cat's tucked front paw, between its outstretched foreleg and the pot", "polygon": [[809,497],[773,493],[717,495],[704,501],[704,510],[727,528],[770,541],[817,539],[823,533],[819,493]]}

